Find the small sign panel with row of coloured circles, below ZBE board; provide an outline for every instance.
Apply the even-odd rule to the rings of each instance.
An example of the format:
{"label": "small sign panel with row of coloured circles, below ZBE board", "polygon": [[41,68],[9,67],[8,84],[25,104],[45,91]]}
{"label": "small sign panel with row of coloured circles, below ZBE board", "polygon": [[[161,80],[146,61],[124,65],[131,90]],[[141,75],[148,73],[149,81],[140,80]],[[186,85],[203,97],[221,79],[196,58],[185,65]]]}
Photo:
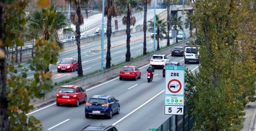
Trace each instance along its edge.
{"label": "small sign panel with row of coloured circles, below ZBE board", "polygon": [[165,96],[165,104],[169,106],[183,106],[184,96]]}

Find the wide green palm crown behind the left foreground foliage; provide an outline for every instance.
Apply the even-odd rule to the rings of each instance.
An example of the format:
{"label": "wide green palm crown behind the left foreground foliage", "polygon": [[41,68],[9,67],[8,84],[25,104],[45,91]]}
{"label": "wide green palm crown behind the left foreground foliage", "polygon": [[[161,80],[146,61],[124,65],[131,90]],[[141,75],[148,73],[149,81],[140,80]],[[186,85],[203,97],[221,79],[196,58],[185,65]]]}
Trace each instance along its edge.
{"label": "wide green palm crown behind the left foreground foliage", "polygon": [[[44,25],[42,25],[40,22],[44,19],[43,12],[45,12],[46,8],[43,8],[42,10],[35,10],[32,13],[31,18],[29,19],[28,22],[28,27],[33,28],[34,31],[38,31],[38,34],[33,34],[33,35],[44,35],[45,40],[51,42],[54,41],[56,42],[56,45],[60,47],[62,50],[64,48],[64,45],[59,42],[59,37],[58,37],[58,31],[61,30],[64,26],[67,25],[66,23],[66,16],[62,12],[57,12],[57,9],[54,7],[54,5],[50,6],[50,11],[53,11],[57,14],[56,19],[54,20],[54,24],[52,25],[53,30],[48,30]],[[43,29],[40,32],[40,29]],[[66,34],[67,32],[73,32],[72,29],[63,29],[63,33]],[[49,66],[47,69],[45,69],[45,73],[49,71]]]}

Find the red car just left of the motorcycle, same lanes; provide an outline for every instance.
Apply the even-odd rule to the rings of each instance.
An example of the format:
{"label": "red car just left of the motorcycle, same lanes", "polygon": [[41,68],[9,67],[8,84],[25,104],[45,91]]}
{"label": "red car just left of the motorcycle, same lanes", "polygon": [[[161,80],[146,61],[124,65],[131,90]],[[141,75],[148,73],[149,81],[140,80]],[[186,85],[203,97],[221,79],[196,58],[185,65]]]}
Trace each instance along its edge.
{"label": "red car just left of the motorcycle, same lanes", "polygon": [[119,79],[122,80],[123,78],[131,78],[135,81],[140,79],[141,73],[140,69],[137,69],[136,66],[124,66],[123,69],[119,73]]}

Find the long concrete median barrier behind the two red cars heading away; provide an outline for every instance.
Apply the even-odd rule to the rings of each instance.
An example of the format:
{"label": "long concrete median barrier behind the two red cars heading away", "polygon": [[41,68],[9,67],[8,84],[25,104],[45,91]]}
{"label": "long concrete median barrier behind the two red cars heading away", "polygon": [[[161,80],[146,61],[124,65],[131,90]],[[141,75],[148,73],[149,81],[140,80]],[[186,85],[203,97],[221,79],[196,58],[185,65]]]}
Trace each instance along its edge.
{"label": "long concrete median barrier behind the two red cars heading away", "polygon": [[[189,39],[190,40],[190,39]],[[166,48],[166,49],[163,49],[163,50],[160,50],[160,51],[157,51],[153,54],[150,54],[150,55],[147,55],[145,57],[142,57],[140,59],[137,59],[137,60],[133,60],[131,62],[128,62],[126,64],[123,64],[121,66],[118,66],[118,67],[115,67],[115,68],[112,68],[112,69],[109,69],[107,71],[103,71],[103,72],[100,72],[100,73],[97,73],[97,74],[94,74],[92,76],[88,76],[88,77],[85,77],[85,78],[82,78],[82,79],[78,79],[76,81],[73,81],[73,82],[69,82],[67,84],[69,85],[80,85],[80,86],[88,86],[90,83],[92,82],[96,82],[96,81],[100,81],[102,79],[105,79],[107,77],[116,77],[119,75],[119,72],[121,71],[121,69],[123,68],[123,66],[129,66],[129,65],[133,65],[133,66],[137,66],[137,67],[140,67],[140,66],[143,66],[145,65],[146,63],[149,63],[149,60],[152,58],[152,56],[154,54],[170,54],[171,52],[171,49],[174,47],[174,46],[181,46],[181,45],[184,45],[187,41],[189,40],[186,40],[182,43],[179,43],[179,44],[175,44],[175,45],[171,45],[170,47]],[[170,60],[171,61],[171,60]],[[65,85],[67,85],[65,84]],[[58,87],[55,87],[53,88],[50,92],[45,92],[45,96],[43,96],[42,98],[38,99],[36,98],[35,96],[33,97],[33,99],[30,100],[30,103],[29,104],[35,104],[37,102],[40,102],[40,101],[44,101],[46,99],[49,99],[49,98],[52,98],[52,97],[56,97],[56,94],[57,92],[59,91],[59,89],[61,88],[61,86],[58,86]]]}

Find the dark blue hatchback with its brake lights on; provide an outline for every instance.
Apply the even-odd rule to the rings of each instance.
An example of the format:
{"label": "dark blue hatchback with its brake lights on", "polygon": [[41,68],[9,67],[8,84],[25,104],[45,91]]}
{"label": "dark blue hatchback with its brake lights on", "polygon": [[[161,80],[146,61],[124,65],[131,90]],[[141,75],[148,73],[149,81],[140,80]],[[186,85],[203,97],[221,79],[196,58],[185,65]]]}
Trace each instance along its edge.
{"label": "dark blue hatchback with its brake lights on", "polygon": [[112,114],[119,114],[119,111],[118,99],[112,96],[95,95],[85,105],[85,118],[93,115],[102,115],[111,119]]}

